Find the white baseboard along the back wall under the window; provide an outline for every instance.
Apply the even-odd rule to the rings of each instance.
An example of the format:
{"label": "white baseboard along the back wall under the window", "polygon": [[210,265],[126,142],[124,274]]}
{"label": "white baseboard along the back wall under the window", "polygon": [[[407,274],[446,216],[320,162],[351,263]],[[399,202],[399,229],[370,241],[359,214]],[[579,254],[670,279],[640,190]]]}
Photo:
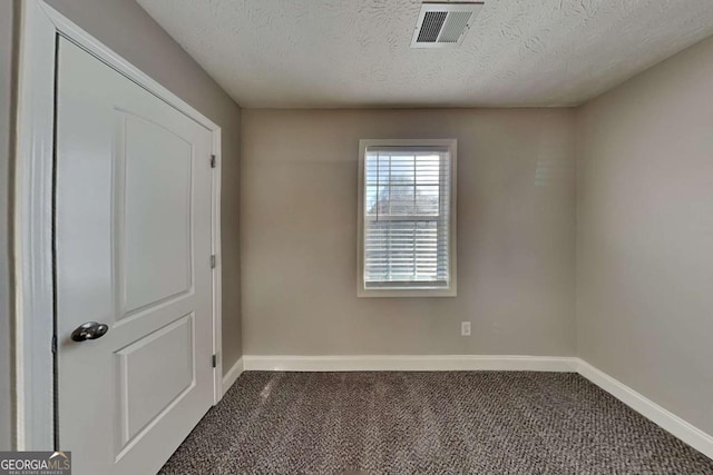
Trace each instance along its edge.
{"label": "white baseboard along the back wall under the window", "polygon": [[575,357],[510,355],[245,355],[245,370],[265,372],[575,372]]}

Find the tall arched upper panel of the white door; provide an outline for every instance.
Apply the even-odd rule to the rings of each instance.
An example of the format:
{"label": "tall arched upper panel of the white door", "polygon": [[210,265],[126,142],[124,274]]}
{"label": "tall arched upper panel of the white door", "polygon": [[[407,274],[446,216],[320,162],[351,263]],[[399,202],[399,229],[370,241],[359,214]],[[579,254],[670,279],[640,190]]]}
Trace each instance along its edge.
{"label": "tall arched upper panel of the white door", "polygon": [[193,150],[158,125],[123,116],[117,200],[125,206],[119,224],[126,315],[191,290]]}

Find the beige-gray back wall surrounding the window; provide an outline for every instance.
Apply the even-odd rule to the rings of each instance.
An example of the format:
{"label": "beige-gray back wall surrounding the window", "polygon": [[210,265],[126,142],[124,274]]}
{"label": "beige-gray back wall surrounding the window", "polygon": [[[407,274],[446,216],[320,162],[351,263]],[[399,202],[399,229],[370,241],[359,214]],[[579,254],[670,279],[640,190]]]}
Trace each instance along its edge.
{"label": "beige-gray back wall surrounding the window", "polygon": [[[458,139],[459,296],[359,299],[358,141],[428,137]],[[244,353],[574,355],[574,152],[572,109],[244,109]]]}

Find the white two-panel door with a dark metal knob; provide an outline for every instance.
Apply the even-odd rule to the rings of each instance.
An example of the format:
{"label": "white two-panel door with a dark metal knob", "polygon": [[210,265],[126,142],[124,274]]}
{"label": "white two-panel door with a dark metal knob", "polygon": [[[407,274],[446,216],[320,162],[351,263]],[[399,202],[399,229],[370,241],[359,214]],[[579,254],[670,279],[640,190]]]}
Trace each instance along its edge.
{"label": "white two-panel door with a dark metal knob", "polygon": [[57,73],[59,444],[156,473],[213,404],[212,136],[65,39]]}

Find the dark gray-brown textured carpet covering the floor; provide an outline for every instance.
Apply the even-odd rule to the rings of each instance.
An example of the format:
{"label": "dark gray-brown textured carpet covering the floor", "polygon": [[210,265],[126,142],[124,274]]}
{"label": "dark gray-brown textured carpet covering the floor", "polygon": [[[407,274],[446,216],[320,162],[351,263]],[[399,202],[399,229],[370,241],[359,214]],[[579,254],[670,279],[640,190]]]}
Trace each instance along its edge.
{"label": "dark gray-brown textured carpet covering the floor", "polygon": [[576,374],[248,372],[162,473],[358,471],[678,475],[713,461]]}

